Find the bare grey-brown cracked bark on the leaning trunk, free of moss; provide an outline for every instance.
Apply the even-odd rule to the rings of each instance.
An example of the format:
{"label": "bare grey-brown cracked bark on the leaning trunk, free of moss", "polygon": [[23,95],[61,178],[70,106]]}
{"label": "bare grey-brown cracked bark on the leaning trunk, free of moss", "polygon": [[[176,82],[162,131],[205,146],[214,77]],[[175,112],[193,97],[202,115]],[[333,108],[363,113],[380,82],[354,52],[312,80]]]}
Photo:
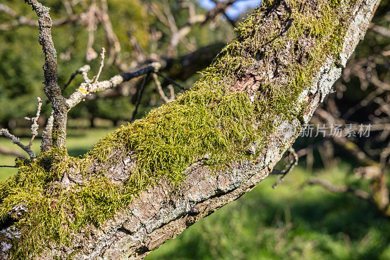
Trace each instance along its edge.
{"label": "bare grey-brown cracked bark on the leaning trunk, free of moss", "polygon": [[[215,173],[205,165],[210,155],[204,154],[185,169],[185,178],[179,190],[163,179],[153,188],[141,192],[139,197],[126,208],[117,210],[115,216],[105,221],[101,227],[88,224],[80,232],[73,234],[72,242],[68,246],[45,246],[38,259],[56,257],[142,259],[166,240],[176,237],[201,218],[250,191],[268,176],[297,137],[296,132],[289,132],[286,135],[286,124],[288,127],[299,129],[301,125],[308,123],[318,104],[330,92],[334,81],[341,74],[342,67],[345,66],[359,40],[364,37],[379,2],[379,0],[356,0],[351,5],[353,10],[350,10],[349,17],[345,18],[348,33],[341,39],[343,48],[339,57],[324,61],[317,74],[312,77],[312,85],[305,87],[301,94],[292,100],[291,106],[298,109],[301,108],[302,102],[307,103],[302,116],[295,114],[288,121],[275,120],[274,124],[279,126],[278,130],[267,137],[268,142],[264,152],[256,155],[256,160],[243,159],[230,162],[228,167]],[[315,6],[315,1],[312,3]],[[286,12],[288,8],[284,1],[279,1],[266,11],[262,19],[271,23],[278,22],[279,15]],[[289,21],[278,24],[288,26]],[[266,25],[267,23],[264,23],[264,26]],[[300,38],[300,41],[310,43],[310,38]],[[303,49],[304,46],[305,43]],[[288,48],[286,46],[286,49]],[[299,51],[287,55],[281,53],[276,57],[279,61],[254,57],[255,66],[250,66],[243,75],[230,82],[230,89],[246,92],[254,99],[255,93],[262,91],[261,84],[278,77],[276,75],[278,62],[293,63],[304,59]],[[261,68],[260,71],[258,68]],[[266,80],[265,75],[268,76]],[[138,162],[132,152],[126,156],[121,155],[121,149],[118,145],[117,150],[111,150],[110,160],[94,161],[89,171],[103,170],[105,176],[112,182],[123,183],[129,178],[131,170]],[[252,150],[249,148],[249,151]],[[64,172],[59,183],[70,187],[85,181],[85,177],[79,174],[77,167],[74,167]],[[2,254],[5,256],[6,253]]]}

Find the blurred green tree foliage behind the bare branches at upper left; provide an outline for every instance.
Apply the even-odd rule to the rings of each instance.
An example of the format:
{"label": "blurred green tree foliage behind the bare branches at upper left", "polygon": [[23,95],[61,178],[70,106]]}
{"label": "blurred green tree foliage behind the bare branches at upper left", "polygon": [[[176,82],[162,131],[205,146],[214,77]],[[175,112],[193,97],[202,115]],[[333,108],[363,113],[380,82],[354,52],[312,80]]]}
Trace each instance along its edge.
{"label": "blurred green tree foliage behind the bare branches at upper left", "polygon": [[[51,8],[50,14],[54,21],[67,17],[65,7],[60,0],[42,0],[40,2]],[[37,20],[36,14],[23,1],[4,0],[2,3],[14,9],[18,15]],[[74,14],[85,12],[90,4],[91,1],[89,0],[81,0],[73,4]],[[98,1],[97,4],[99,5],[100,2]],[[172,32],[149,10],[151,6],[162,12],[164,5],[169,4],[179,28],[185,25],[188,19],[188,10],[181,8],[179,2],[175,0],[108,0],[107,4],[114,32],[121,45],[119,56],[129,67],[131,67],[132,62],[137,60],[137,54],[129,40],[129,33],[137,39],[146,57],[151,54],[165,56],[167,53]],[[196,1],[194,1],[194,4],[197,14],[207,12]],[[163,12],[162,16],[164,16]],[[9,23],[12,20],[15,19],[0,12],[0,24]],[[61,88],[69,79],[70,74],[84,64],[91,65],[90,77],[98,71],[99,56],[90,62],[85,61],[88,41],[88,31],[85,23],[86,19],[78,19],[52,28],[53,40],[57,49],[59,85]],[[8,127],[10,120],[20,119],[35,113],[36,96],[45,97],[42,84],[43,54],[38,43],[38,28],[19,26],[10,31],[0,32],[0,126]],[[195,25],[185,41],[189,42],[195,50],[215,42],[227,43],[232,38],[232,27],[224,21],[219,21],[218,26],[215,24]],[[102,25],[98,23],[93,49],[99,53],[102,47],[107,49],[107,40]],[[191,51],[185,44],[179,43],[174,56],[183,56],[189,52]],[[108,79],[120,73],[118,67],[109,64],[106,57],[106,64],[100,75],[100,80]],[[195,78],[181,83],[191,86],[197,78],[199,78],[199,75],[195,75]],[[81,78],[76,77],[64,92],[64,95],[70,95],[80,82]],[[133,87],[137,88],[137,86]],[[129,120],[134,109],[133,103],[135,100],[132,99],[134,93],[135,91],[130,91],[130,96],[87,100],[71,110],[69,115],[73,118],[100,117],[114,121]],[[146,89],[139,111],[148,111],[161,103],[153,85],[152,88]],[[43,111],[48,116],[51,111],[50,105],[45,105]],[[139,116],[142,115],[142,113],[139,114]]]}

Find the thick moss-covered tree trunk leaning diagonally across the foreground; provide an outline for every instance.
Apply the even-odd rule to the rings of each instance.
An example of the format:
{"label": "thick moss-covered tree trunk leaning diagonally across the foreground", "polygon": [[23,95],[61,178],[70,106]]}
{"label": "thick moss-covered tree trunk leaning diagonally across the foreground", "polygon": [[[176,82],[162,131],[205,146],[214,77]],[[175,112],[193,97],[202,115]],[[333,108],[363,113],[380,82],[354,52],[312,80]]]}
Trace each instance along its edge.
{"label": "thick moss-covered tree trunk leaning diagonally across the foreground", "polygon": [[2,258],[142,259],[267,177],[380,1],[263,2],[191,91],[82,158],[19,161],[0,186]]}

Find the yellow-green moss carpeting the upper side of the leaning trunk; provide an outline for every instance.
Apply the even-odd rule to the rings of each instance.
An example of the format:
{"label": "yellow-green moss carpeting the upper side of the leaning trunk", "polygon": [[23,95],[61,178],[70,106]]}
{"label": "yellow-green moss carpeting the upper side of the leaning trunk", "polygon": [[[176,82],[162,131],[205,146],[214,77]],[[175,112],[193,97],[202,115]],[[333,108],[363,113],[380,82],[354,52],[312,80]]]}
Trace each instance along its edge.
{"label": "yellow-green moss carpeting the upper side of the leaning trunk", "polygon": [[[267,26],[261,26],[266,7],[258,8],[237,28],[237,38],[215,58],[192,91],[104,137],[81,158],[53,148],[33,162],[18,160],[19,172],[0,184],[0,220],[15,219],[21,236],[12,242],[10,256],[28,258],[38,254],[42,245],[70,242],[71,235],[86,224],[100,225],[161,180],[179,186],[183,170],[206,154],[205,164],[214,170],[244,158],[256,160],[248,153],[251,143],[256,141],[264,149],[280,122],[302,120],[306,104],[296,104],[297,97],[312,85],[313,75],[327,58],[337,58],[348,3],[324,0],[314,12],[307,4],[289,0],[288,13]],[[303,47],[302,38],[310,38],[312,45]],[[301,53],[299,62],[278,64],[278,72],[287,80],[264,80],[252,101],[247,93],[232,89],[248,71],[261,72],[267,61],[275,62],[287,43],[293,44],[292,57]],[[256,63],[260,59],[265,63]],[[110,155],[117,150],[122,155],[132,151],[137,159],[123,185],[110,182],[104,170],[89,171],[96,160],[113,160]],[[87,181],[69,188],[57,185],[68,169]],[[28,211],[18,214],[15,205]]]}

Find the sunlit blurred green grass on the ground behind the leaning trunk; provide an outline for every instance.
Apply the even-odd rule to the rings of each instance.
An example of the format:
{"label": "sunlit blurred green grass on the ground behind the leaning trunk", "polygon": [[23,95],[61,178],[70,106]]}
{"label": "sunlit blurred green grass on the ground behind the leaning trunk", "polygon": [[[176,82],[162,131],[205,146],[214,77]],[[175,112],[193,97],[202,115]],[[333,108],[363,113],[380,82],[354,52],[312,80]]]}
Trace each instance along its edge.
{"label": "sunlit blurred green grass on the ground behind the leaning trunk", "polygon": [[[83,154],[113,128],[70,129],[67,147]],[[28,139],[23,139],[27,143]],[[0,144],[17,149],[8,140]],[[34,149],[39,150],[39,140]],[[13,164],[0,155],[0,165]],[[304,186],[313,176],[336,185],[367,187],[351,174],[351,163],[332,170],[306,172],[298,165],[276,189],[270,176],[253,191],[196,223],[147,257],[160,259],[382,259],[390,260],[390,222],[375,208],[351,195]],[[15,172],[0,169],[0,180]]]}

